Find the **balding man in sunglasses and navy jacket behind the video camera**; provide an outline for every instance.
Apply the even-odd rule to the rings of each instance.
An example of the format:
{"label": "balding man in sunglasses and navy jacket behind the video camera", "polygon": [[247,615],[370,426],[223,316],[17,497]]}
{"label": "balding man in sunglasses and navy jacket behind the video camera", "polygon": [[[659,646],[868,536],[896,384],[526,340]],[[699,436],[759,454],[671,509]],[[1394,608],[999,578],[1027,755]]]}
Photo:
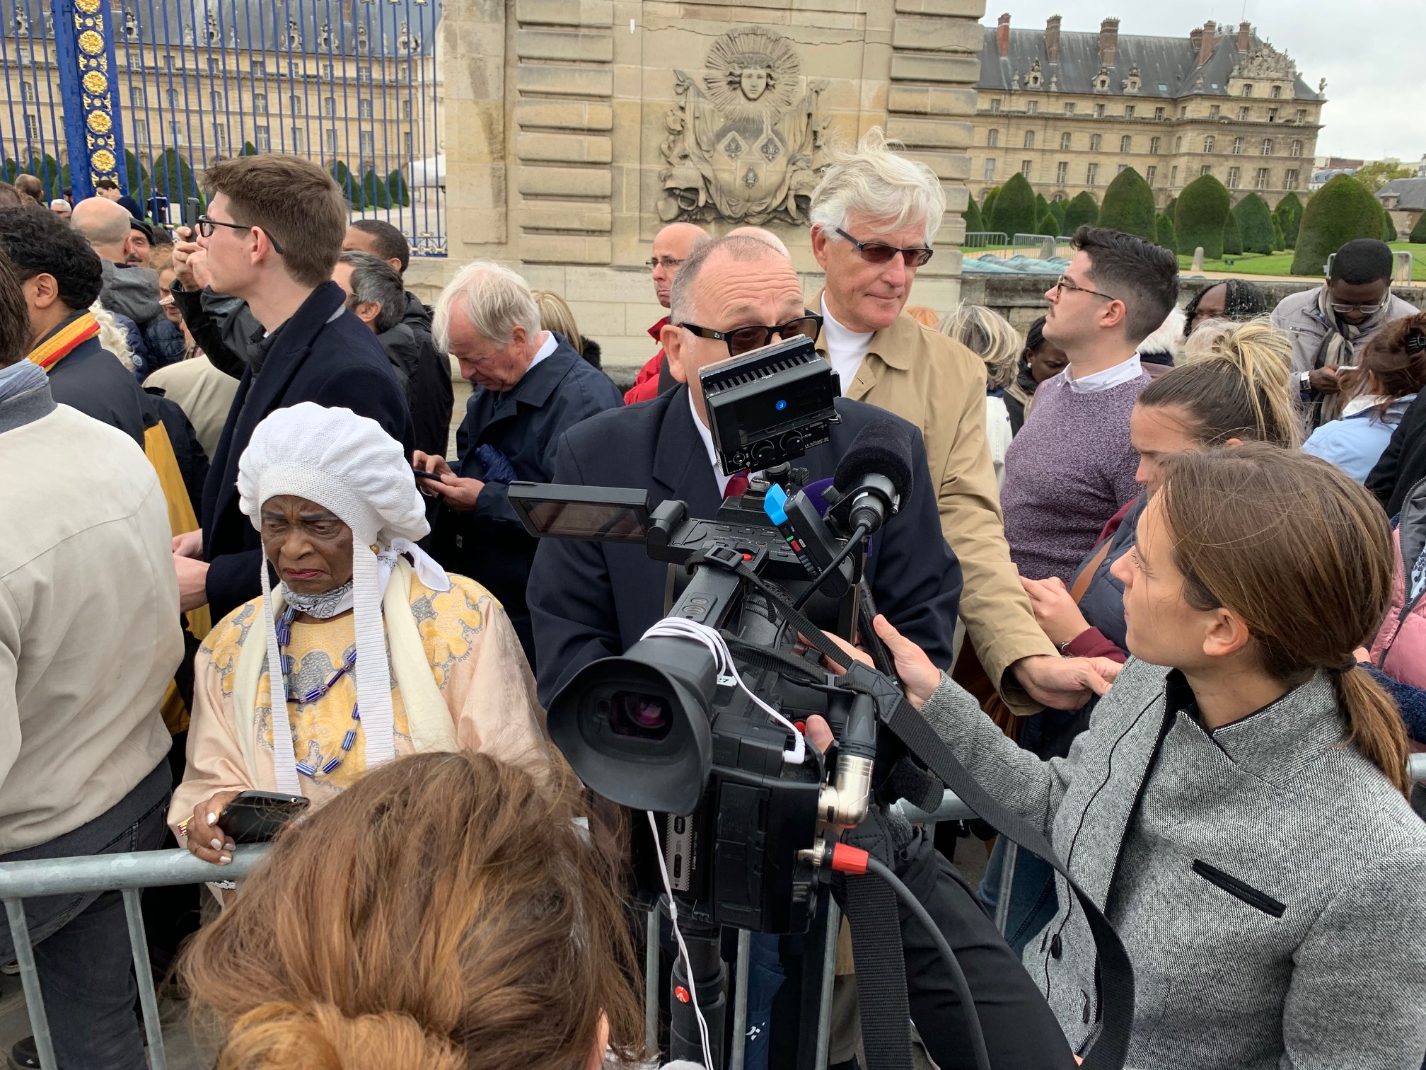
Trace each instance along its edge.
{"label": "balding man in sunglasses and navy jacket behind the video camera", "polygon": [[[569,429],[555,454],[553,482],[646,489],[653,502],[676,498],[687,502],[690,516],[714,516],[723,498],[746,489],[747,474],[726,477],[717,467],[699,370],[771,340],[816,337],[819,320],[803,305],[791,263],[766,243],[730,237],[704,245],[683,264],[663,328],[679,387]],[[837,412],[831,441],[797,461],[813,479],[836,472],[863,427],[888,418],[844,399]],[[921,435],[908,431],[915,464],[925,465]],[[924,636],[935,651],[931,659],[950,666],[961,571],[924,479],[913,481],[910,499],[877,539],[867,569],[877,608]],[[542,539],[529,582],[540,702],[548,705],[578,669],[623,652],[662,618],[666,576],[667,565],[650,561],[643,546]]]}

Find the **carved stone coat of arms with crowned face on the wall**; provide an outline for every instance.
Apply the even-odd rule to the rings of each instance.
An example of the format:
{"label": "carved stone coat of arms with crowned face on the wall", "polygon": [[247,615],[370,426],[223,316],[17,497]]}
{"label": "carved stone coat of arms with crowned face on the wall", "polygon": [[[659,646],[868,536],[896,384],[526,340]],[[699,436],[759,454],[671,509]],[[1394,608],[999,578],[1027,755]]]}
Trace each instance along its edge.
{"label": "carved stone coat of arms with crowned face on the wall", "polygon": [[764,29],[723,34],[703,66],[674,71],[659,217],[806,223],[829,121],[827,80],[804,77],[791,41]]}

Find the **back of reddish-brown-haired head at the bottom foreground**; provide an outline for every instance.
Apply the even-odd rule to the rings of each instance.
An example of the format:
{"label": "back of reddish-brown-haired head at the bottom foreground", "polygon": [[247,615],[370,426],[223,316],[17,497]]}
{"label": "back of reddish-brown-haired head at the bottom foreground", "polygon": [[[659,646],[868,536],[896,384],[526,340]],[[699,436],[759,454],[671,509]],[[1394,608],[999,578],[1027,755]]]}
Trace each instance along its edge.
{"label": "back of reddish-brown-haired head at the bottom foreground", "polygon": [[599,1070],[642,1054],[639,963],[582,793],[419,753],[277,839],[178,972],[218,1070]]}

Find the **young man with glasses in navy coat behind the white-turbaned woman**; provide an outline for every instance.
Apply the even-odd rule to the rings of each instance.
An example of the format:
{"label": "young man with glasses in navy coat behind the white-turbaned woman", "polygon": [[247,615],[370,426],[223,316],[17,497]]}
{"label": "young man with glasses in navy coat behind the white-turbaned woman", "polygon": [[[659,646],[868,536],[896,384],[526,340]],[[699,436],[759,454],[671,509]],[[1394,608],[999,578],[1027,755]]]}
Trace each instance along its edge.
{"label": "young man with glasses in navy coat behind the white-turbaned woman", "polygon": [[311,401],[375,419],[408,452],[414,432],[386,354],[332,282],[347,234],[347,201],[332,177],[309,160],[240,156],[210,167],[204,190],[197,243],[175,248],[174,270],[193,278],[201,265],[211,290],[244,301],[261,327],[212,457],[202,531],[174,539],[183,608],[208,605],[217,622],[261,591],[262,545],[238,508],[237,477],[264,417]]}

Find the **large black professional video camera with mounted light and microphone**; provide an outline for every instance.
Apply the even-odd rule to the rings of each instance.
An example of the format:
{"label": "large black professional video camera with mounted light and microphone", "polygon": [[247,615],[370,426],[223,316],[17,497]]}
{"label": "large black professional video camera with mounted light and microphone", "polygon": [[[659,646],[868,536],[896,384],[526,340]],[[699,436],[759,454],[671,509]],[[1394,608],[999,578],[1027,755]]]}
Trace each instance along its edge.
{"label": "large black professional video camera with mounted light and microphone", "polygon": [[[596,793],[663,815],[659,842],[635,843],[643,889],[663,890],[657,852],[680,913],[804,932],[819,835],[866,816],[878,739],[873,696],[827,673],[797,622],[876,643],[858,551],[910,492],[910,439],[891,421],[866,428],[824,492],[823,518],[806,471],[791,468],[840,419],[836,375],[811,340],[720,362],[700,382],[723,472],[761,469],[716,518],[690,518],[680,501],[650,505],[645,491],[511,485],[532,535],[643,544],[683,569],[669,616],[622,656],[583,666],[549,703],[549,732]],[[672,622],[713,629],[724,645]],[[800,739],[813,713],[838,739],[830,762]]]}

